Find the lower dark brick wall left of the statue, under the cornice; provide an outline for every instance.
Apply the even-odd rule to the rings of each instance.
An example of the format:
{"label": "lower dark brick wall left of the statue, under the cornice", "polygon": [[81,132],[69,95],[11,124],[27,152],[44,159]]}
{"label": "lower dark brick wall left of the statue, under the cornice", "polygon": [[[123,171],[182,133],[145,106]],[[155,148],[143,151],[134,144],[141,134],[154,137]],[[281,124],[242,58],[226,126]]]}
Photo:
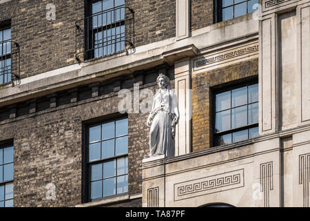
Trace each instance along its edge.
{"label": "lower dark brick wall left of the statue, under the cornice", "polygon": [[[92,97],[90,86],[82,86],[3,108],[0,113],[0,142],[14,140],[14,206],[81,204],[84,186],[83,125],[120,115],[118,102],[121,98],[115,90],[115,81],[124,86],[130,85],[128,82],[131,81],[129,89],[133,90],[133,83],[141,82],[142,75],[144,84],[141,84],[141,89],[149,88],[155,92],[159,68],[163,66],[146,70],[137,77],[123,76],[97,85],[98,96]],[[173,70],[169,70],[172,88]],[[142,192],[142,159],[149,153],[147,116],[138,113],[128,115],[130,195]],[[45,186],[49,183],[56,186],[56,200],[46,199],[48,190]],[[141,206],[141,199],[122,202],[120,206]]]}

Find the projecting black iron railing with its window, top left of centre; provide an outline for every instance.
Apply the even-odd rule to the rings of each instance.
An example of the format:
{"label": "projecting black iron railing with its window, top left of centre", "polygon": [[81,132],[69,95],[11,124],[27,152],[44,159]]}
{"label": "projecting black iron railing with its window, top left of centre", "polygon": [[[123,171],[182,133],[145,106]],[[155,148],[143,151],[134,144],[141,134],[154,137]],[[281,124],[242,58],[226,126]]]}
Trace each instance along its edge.
{"label": "projecting black iron railing with its window, top left of centre", "polygon": [[76,21],[76,59],[106,57],[132,48],[134,11],[125,0],[92,1],[90,16]]}

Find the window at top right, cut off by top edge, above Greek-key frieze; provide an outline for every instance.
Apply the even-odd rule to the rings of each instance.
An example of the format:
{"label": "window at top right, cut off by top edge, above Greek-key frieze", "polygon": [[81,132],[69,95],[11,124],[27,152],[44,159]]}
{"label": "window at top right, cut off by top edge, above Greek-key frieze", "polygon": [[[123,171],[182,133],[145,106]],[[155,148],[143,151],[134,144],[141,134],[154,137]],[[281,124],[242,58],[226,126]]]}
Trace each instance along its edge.
{"label": "window at top right, cut off by top edge, above Greek-key frieze", "polygon": [[258,0],[218,0],[218,21],[226,21],[249,14],[258,9]]}

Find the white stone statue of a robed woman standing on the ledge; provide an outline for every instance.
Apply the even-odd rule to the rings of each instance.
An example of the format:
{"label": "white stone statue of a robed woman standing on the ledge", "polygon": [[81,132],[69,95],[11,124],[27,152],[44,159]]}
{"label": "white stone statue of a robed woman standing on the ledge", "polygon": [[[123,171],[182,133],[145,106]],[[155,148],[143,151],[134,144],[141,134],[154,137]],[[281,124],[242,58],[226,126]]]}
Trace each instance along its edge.
{"label": "white stone statue of a robed woman standing on the ledge", "polygon": [[162,154],[173,157],[174,135],[179,119],[178,101],[169,87],[169,77],[159,74],[156,81],[159,90],[154,95],[152,111],[147,119],[147,126],[151,127],[148,157]]}

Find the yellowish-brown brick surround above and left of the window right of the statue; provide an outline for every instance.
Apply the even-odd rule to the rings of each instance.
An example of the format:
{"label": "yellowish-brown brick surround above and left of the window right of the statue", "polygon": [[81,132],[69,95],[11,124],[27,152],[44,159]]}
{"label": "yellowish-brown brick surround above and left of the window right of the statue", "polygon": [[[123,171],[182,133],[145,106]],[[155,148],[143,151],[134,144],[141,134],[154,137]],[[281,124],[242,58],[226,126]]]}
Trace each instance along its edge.
{"label": "yellowish-brown brick surround above and left of the window right of the statue", "polygon": [[[217,68],[192,76],[192,150],[201,151],[212,146],[212,90],[234,84],[246,77],[258,76],[258,59]],[[231,82],[232,81],[232,82]]]}

